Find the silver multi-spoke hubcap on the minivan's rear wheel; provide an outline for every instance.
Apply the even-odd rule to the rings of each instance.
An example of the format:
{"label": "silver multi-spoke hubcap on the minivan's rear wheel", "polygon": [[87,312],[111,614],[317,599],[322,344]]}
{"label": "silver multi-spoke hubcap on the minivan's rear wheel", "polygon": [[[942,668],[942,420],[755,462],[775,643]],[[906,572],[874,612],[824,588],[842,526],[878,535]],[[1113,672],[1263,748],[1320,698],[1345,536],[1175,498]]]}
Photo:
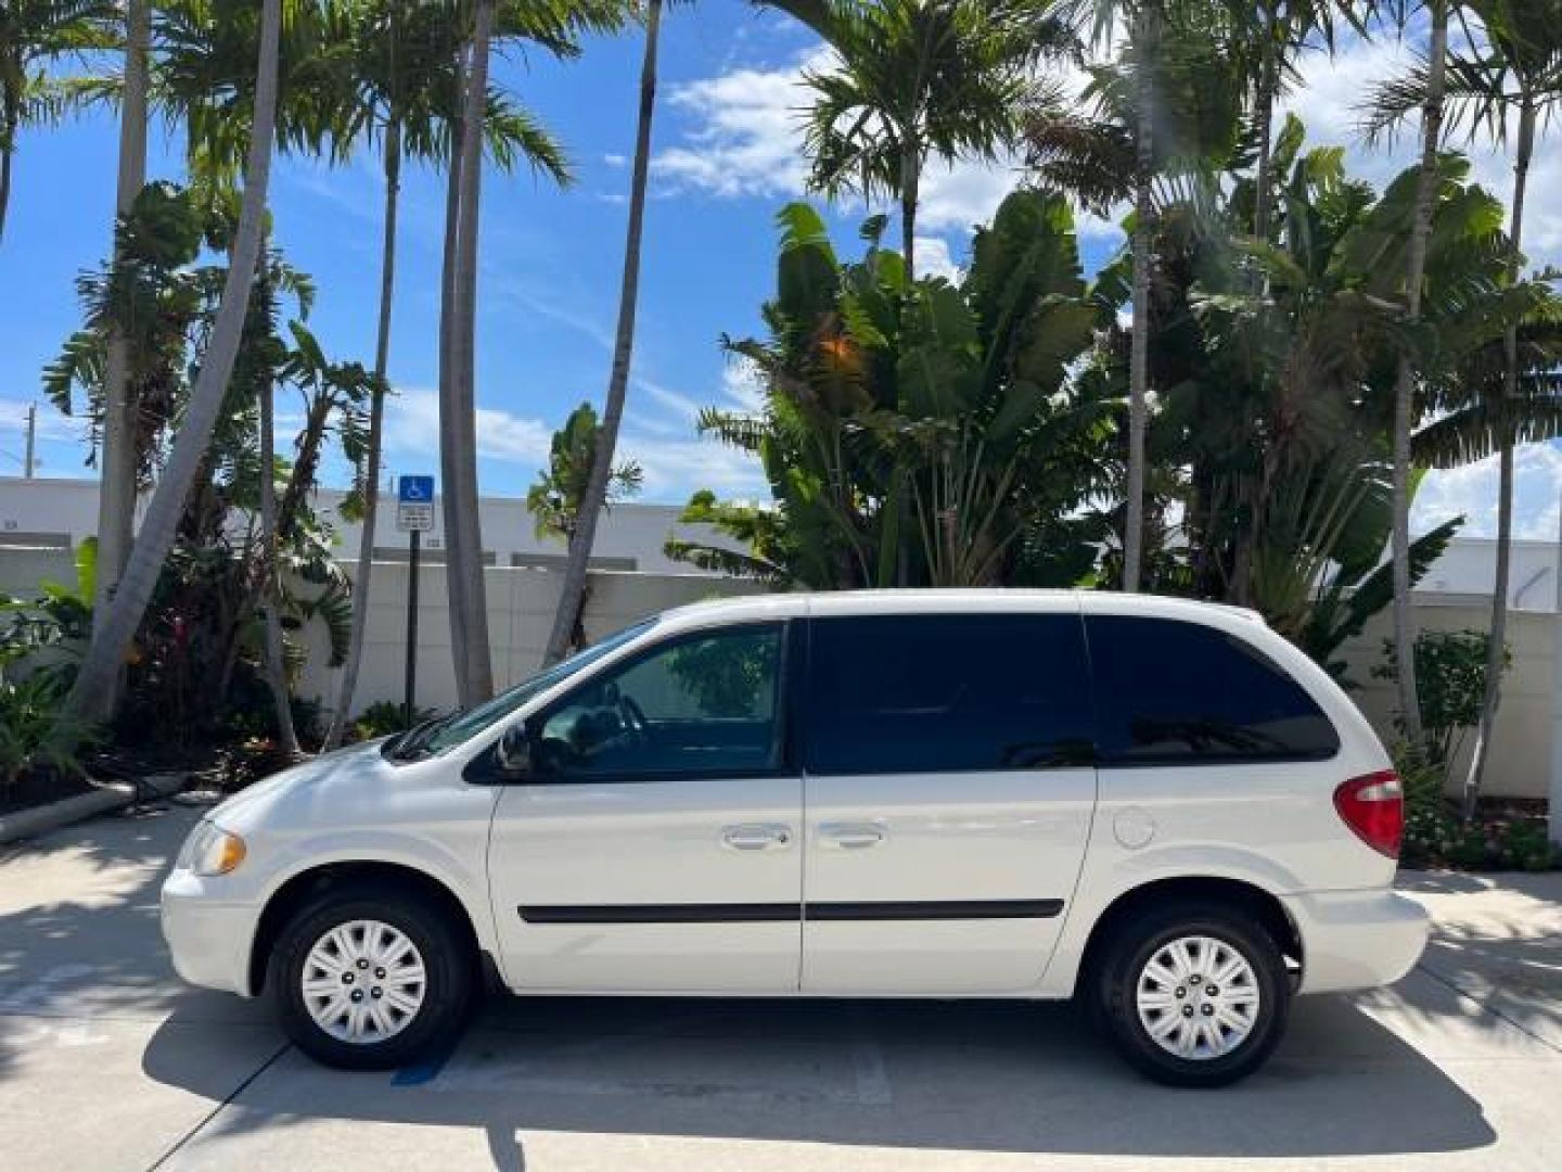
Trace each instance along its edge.
{"label": "silver multi-spoke hubcap on the minivan's rear wheel", "polygon": [[1259,983],[1225,941],[1182,936],[1161,947],[1139,974],[1139,1022],[1167,1053],[1203,1061],[1236,1050],[1259,1017]]}

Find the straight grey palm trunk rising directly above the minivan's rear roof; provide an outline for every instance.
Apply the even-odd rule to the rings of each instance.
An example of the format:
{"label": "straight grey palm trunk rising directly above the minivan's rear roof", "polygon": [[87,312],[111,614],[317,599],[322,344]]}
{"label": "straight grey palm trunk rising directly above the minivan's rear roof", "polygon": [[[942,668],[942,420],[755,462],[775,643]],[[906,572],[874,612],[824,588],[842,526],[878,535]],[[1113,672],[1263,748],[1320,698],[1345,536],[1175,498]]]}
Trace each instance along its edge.
{"label": "straight grey palm trunk rising directly above the minivan's rear roof", "polygon": [[1134,167],[1134,322],[1128,353],[1128,508],[1123,520],[1123,589],[1137,591],[1145,544],[1145,430],[1150,397],[1150,223],[1154,202],[1154,86],[1151,61],[1157,34],[1157,13],[1143,3],[1136,19],[1139,48],[1137,81],[1137,159]]}

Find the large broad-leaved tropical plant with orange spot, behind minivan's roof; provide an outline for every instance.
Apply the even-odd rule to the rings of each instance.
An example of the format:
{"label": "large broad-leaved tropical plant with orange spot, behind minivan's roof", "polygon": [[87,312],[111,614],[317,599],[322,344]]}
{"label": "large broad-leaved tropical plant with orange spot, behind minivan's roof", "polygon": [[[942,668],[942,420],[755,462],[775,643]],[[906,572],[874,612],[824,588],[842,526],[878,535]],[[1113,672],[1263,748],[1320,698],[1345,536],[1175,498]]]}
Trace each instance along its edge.
{"label": "large broad-leaved tropical plant with orange spot, behind minivan's roof", "polygon": [[764,403],[700,417],[759,459],[773,505],[698,492],[684,520],[745,548],[673,541],[669,555],[815,589],[1087,577],[1120,402],[1081,373],[1114,317],[1084,281],[1067,202],[1006,198],[959,284],[911,281],[881,247],[884,217],[864,223],[854,263],[808,205],[779,222],[770,336],[726,342],[758,369]]}

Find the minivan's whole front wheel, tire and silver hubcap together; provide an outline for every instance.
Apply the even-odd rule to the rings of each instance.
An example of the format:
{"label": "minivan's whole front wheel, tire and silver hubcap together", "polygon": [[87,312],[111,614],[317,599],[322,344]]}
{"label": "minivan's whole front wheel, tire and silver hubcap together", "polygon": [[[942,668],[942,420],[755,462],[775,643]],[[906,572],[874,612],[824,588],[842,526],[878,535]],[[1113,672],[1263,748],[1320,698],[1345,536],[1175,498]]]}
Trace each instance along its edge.
{"label": "minivan's whole front wheel, tire and silver hubcap together", "polygon": [[451,1041],[467,942],[412,891],[326,889],[283,928],[267,984],[287,1036],[326,1066],[384,1070]]}

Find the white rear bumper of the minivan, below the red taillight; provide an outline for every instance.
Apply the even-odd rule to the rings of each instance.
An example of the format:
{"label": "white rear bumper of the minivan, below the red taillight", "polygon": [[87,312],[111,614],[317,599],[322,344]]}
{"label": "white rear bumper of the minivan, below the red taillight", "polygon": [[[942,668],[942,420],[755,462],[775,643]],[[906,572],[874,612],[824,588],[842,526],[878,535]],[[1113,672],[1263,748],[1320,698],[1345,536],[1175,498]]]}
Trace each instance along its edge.
{"label": "white rear bumper of the minivan, below the red taillight", "polygon": [[1303,892],[1281,902],[1301,933],[1300,992],[1392,984],[1426,947],[1426,909],[1392,891]]}

